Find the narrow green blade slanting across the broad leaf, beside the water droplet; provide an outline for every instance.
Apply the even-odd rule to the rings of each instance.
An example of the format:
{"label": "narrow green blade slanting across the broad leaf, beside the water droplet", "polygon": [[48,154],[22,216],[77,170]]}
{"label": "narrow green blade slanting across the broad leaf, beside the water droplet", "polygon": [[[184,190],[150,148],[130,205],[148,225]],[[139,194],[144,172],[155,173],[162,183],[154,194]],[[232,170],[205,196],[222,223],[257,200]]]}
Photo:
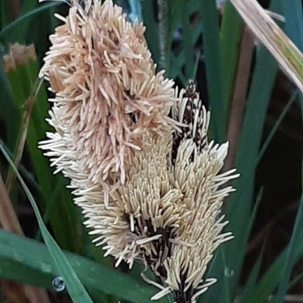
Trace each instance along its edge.
{"label": "narrow green blade slanting across the broad leaf, beside the water droplet", "polygon": [[17,175],[17,178],[23,187],[31,205],[35,212],[39,228],[41,230],[41,234],[43,240],[48,248],[49,254],[52,256],[53,262],[58,269],[58,273],[64,278],[64,281],[67,286],[67,290],[73,299],[74,302],[92,302],[91,298],[89,297],[88,293],[86,292],[84,286],[81,284],[77,274],[74,272],[72,266],[69,264],[66,256],[63,254],[62,250],[60,249],[59,245],[56,243],[54,238],[46,229],[38,207],[35,203],[35,200],[29,191],[28,187],[24,183],[22,177],[20,176],[16,166],[14,165],[13,161],[10,159],[8,153],[4,149],[2,143],[0,143],[0,149],[2,150],[3,155],[9,162],[10,166],[13,168],[14,172]]}

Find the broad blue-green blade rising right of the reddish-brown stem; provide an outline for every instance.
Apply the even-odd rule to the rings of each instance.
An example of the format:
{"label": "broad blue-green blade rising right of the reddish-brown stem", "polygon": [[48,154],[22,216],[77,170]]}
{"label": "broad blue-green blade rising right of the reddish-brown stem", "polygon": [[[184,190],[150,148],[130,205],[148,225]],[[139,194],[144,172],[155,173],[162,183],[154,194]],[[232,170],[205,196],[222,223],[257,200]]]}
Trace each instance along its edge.
{"label": "broad blue-green blade rising right of the reddish-brown stem", "polygon": [[[279,2],[274,0],[271,9],[276,9]],[[235,161],[241,178],[235,180],[237,189],[226,203],[226,217],[229,220],[228,230],[232,230],[235,238],[226,243],[226,262],[228,268],[233,271],[233,276],[228,279],[229,288],[234,296],[245,255],[245,246],[249,230],[243,228],[249,222],[252,197],[254,196],[254,176],[259,154],[259,146],[263,135],[263,125],[267,113],[267,107],[271,96],[272,87],[278,71],[278,64],[265,47],[258,49],[256,65],[252,75],[246,110],[242,123],[238,149]],[[249,159],[249,161],[247,161]],[[222,262],[213,267],[213,276],[221,277]],[[216,285],[215,285],[216,286]],[[216,301],[220,292],[219,287],[213,287],[212,296],[208,301]],[[206,296],[208,293],[206,293]],[[206,300],[207,301],[207,300]]]}

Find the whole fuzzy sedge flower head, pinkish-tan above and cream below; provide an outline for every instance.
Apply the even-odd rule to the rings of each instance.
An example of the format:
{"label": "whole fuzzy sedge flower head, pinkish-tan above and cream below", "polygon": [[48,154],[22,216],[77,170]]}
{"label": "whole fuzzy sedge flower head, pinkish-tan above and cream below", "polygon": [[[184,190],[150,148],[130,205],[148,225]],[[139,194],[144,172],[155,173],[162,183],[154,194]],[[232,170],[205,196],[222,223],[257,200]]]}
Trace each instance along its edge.
{"label": "whole fuzzy sedge flower head, pinkish-tan above and cream below", "polygon": [[[111,0],[73,1],[51,35],[41,76],[55,92],[40,143],[55,172],[70,178],[93,242],[131,268],[157,276],[151,299],[171,293],[194,303],[216,279],[207,265],[219,244],[223,200],[234,189],[221,172],[228,144],[209,141],[210,113],[194,84],[180,93],[156,73],[144,27]],[[160,283],[161,282],[161,283]]]}

